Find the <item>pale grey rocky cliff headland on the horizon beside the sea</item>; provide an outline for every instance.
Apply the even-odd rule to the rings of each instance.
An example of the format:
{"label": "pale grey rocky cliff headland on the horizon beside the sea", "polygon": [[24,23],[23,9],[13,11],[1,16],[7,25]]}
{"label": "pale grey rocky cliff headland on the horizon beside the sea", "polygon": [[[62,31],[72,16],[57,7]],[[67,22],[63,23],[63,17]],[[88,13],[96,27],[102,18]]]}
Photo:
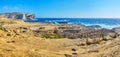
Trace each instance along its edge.
{"label": "pale grey rocky cliff headland on the horizon beside the sea", "polygon": [[12,13],[0,13],[0,17],[10,18],[10,19],[34,19],[35,15],[31,13],[21,13],[21,12],[12,12]]}

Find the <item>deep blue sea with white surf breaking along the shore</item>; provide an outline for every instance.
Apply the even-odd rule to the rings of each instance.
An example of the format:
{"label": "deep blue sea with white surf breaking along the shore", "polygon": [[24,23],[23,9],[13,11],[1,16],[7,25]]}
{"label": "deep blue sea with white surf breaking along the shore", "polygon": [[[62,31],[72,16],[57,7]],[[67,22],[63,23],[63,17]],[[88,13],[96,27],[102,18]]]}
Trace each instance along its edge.
{"label": "deep blue sea with white surf breaking along the shore", "polygon": [[83,24],[86,26],[100,25],[107,29],[120,27],[119,18],[36,18],[27,20],[27,22],[68,22],[68,24]]}

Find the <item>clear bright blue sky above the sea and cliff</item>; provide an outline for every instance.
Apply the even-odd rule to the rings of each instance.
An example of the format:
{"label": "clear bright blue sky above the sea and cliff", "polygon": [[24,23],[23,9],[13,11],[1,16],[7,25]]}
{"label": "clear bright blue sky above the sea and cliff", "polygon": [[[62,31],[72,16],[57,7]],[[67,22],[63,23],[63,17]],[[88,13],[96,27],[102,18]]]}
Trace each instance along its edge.
{"label": "clear bright blue sky above the sea and cliff", "polygon": [[0,13],[27,12],[37,18],[120,18],[120,0],[0,0]]}

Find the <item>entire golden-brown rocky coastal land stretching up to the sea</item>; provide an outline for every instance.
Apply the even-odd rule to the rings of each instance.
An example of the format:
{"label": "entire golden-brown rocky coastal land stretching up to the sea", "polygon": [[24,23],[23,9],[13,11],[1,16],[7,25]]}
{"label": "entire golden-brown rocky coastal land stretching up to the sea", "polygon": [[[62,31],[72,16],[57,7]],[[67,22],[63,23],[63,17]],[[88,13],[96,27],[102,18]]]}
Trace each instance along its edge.
{"label": "entire golden-brown rocky coastal land stretching up to the sea", "polygon": [[119,57],[119,31],[0,18],[0,57]]}

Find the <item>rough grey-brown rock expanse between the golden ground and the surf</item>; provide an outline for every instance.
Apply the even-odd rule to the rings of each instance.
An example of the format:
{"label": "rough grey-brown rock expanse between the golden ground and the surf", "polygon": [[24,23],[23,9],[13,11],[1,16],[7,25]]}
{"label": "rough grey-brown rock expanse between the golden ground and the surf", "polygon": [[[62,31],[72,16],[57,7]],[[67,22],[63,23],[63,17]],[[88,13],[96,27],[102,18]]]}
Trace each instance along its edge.
{"label": "rough grey-brown rock expanse between the golden ground and the surf", "polygon": [[[60,24],[54,33],[64,36],[65,38],[103,38],[107,35],[115,34],[113,30],[101,28],[101,26],[84,26],[73,24]],[[113,37],[113,35],[111,35]]]}

